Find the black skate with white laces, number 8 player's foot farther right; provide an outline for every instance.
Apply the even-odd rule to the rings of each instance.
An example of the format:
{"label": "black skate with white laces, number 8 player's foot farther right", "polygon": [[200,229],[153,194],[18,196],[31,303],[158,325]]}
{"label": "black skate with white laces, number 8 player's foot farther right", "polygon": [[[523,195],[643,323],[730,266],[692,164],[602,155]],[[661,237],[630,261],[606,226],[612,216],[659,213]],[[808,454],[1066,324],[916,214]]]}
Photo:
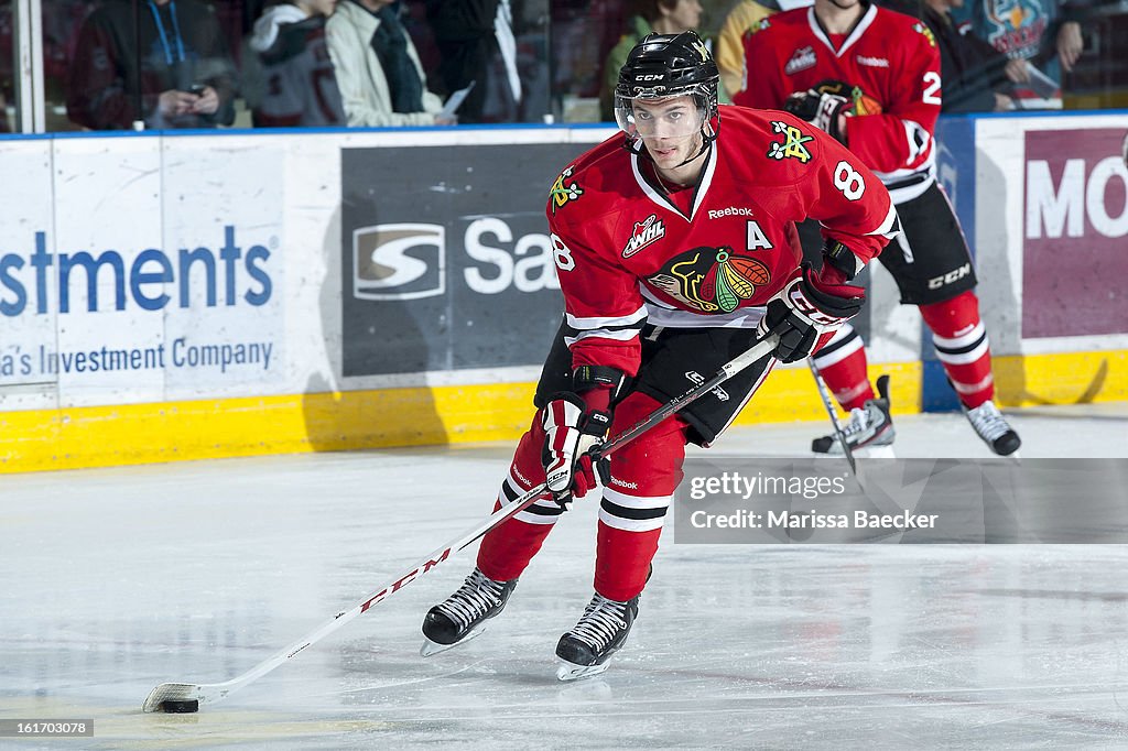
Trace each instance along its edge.
{"label": "black skate with white laces, number 8 player's foot farther right", "polygon": [[597,592],[576,625],[556,645],[556,656],[564,661],[556,678],[574,681],[607,670],[608,659],[627,640],[637,616],[637,597],[618,602]]}

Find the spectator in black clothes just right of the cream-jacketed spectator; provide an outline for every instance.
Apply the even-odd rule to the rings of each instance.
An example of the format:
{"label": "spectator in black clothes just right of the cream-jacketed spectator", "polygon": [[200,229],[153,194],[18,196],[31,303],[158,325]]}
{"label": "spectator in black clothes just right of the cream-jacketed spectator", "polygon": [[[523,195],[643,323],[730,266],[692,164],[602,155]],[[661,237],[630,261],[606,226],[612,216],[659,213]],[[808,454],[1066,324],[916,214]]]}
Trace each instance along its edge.
{"label": "spectator in black clothes just right of the cream-jacketed spectator", "polygon": [[426,0],[426,18],[447,91],[474,85],[458,121],[519,122],[521,78],[510,0]]}

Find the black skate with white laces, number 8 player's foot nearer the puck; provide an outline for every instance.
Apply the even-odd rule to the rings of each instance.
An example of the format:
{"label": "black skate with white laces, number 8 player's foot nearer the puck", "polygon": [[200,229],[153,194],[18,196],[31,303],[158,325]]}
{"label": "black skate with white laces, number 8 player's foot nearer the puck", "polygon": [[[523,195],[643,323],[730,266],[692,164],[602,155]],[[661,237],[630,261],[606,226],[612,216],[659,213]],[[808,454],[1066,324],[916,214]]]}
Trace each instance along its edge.
{"label": "black skate with white laces, number 8 player's foot nearer the puck", "polygon": [[517,580],[495,582],[475,568],[449,598],[431,608],[423,619],[424,657],[468,642],[482,633],[485,621],[502,611]]}

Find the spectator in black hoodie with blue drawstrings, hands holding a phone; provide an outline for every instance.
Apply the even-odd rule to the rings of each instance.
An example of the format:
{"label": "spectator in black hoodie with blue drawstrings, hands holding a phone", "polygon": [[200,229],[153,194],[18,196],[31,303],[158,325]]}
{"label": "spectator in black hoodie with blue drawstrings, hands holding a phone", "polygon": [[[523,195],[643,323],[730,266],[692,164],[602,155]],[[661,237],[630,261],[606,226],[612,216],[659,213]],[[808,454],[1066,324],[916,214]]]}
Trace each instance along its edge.
{"label": "spectator in black hoodie with blue drawstrings, hands holding a phone", "polygon": [[212,7],[143,0],[139,10],[138,29],[132,0],[105,0],[83,21],[68,117],[90,130],[230,125],[236,69]]}

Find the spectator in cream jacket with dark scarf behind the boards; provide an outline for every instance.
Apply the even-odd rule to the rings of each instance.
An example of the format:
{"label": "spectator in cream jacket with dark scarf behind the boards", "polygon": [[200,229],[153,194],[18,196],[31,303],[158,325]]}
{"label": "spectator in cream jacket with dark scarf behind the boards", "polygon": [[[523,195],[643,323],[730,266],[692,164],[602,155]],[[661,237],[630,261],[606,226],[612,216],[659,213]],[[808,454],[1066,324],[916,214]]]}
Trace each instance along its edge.
{"label": "spectator in cream jacket with dark scarf behind the boards", "polygon": [[342,0],[325,25],[352,126],[452,125],[426,88],[418,52],[394,0]]}

